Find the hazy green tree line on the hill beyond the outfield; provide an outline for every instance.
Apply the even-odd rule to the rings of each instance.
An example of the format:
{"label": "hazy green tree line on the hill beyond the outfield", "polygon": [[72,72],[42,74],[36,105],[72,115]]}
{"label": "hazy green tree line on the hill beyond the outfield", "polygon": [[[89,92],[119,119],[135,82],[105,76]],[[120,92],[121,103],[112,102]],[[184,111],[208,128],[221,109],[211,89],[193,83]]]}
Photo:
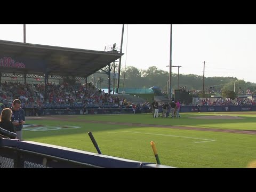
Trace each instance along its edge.
{"label": "hazy green tree line on the hill beyond the outfield", "polygon": [[[117,70],[115,73],[117,73]],[[113,67],[111,74],[114,74]],[[110,77],[111,89],[113,89],[114,84],[113,76]],[[88,81],[94,83],[94,85],[97,83],[98,88],[100,89],[108,87],[108,75],[102,70],[90,75]],[[146,70],[129,66],[126,69],[121,69],[119,90],[122,90],[123,87],[147,89],[152,86],[159,86],[163,92],[166,92],[167,81],[169,81],[169,71],[158,69],[156,66],[149,67]],[[245,82],[243,79],[238,79],[236,77],[204,77],[205,93],[217,92],[218,90],[221,90],[222,92],[234,91],[234,85],[236,94],[239,92],[246,93],[247,89],[250,89],[251,92],[256,91],[256,83]],[[179,87],[183,86],[186,90],[203,91],[203,76],[179,74]],[[116,87],[117,77],[115,79],[115,89]],[[172,73],[172,89],[179,89],[179,87],[178,74]]]}

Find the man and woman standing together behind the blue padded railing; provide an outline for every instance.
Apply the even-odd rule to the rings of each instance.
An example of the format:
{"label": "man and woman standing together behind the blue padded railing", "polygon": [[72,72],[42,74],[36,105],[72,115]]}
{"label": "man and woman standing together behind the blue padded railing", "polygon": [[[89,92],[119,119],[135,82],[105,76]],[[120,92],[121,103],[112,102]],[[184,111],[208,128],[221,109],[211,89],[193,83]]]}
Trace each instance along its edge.
{"label": "man and woman standing together behind the blue padded railing", "polygon": [[25,111],[21,101],[15,99],[11,108],[4,108],[0,116],[0,137],[10,139],[22,138],[22,127],[25,124]]}

